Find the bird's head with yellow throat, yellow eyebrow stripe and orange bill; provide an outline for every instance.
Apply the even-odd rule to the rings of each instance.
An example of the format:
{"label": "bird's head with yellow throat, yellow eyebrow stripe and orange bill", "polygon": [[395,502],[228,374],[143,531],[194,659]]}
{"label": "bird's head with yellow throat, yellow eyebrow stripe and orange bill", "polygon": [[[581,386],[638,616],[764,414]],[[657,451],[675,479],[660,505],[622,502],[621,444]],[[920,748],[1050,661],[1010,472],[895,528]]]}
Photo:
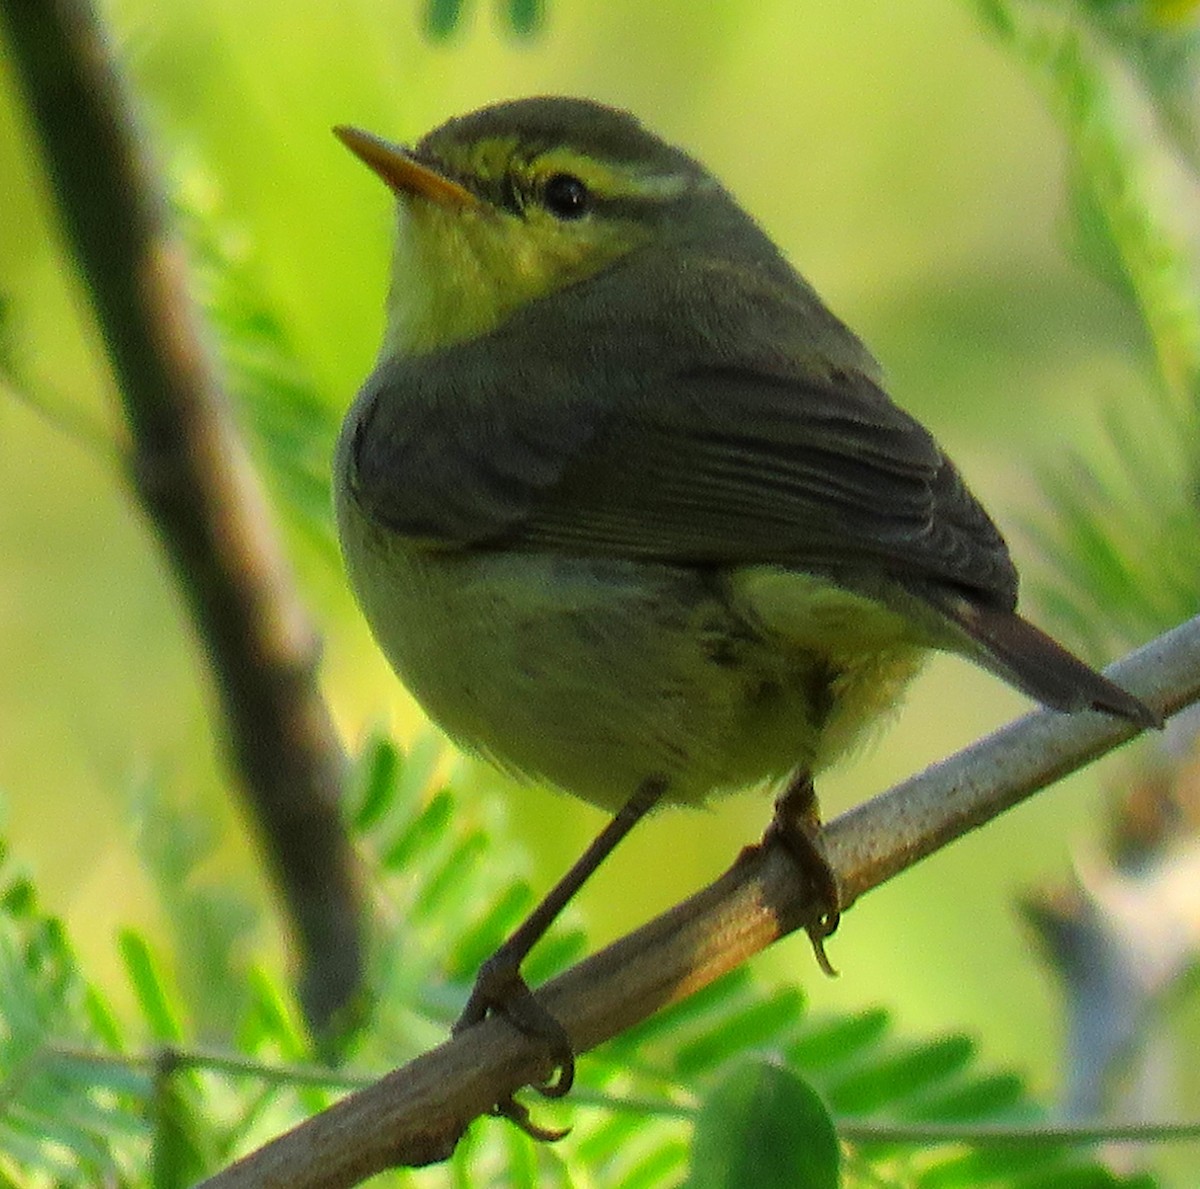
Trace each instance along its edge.
{"label": "bird's head with yellow throat, yellow eyebrow stripe and orange bill", "polygon": [[412,149],[335,131],[398,199],[385,354],[486,334],[649,245],[757,235],[696,161],[586,100],[499,103]]}

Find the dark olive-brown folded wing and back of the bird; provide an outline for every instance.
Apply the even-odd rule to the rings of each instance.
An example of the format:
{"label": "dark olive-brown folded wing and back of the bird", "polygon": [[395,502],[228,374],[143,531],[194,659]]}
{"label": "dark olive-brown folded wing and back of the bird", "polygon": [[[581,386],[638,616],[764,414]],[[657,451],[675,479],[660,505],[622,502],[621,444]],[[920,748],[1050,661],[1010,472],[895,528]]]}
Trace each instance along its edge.
{"label": "dark olive-brown folded wing and back of the bird", "polygon": [[606,275],[486,338],[382,364],[360,398],[358,499],[450,547],[871,564],[1010,607],[1000,533],[850,331],[806,290],[713,269],[690,271],[696,319],[629,275],[610,299]]}

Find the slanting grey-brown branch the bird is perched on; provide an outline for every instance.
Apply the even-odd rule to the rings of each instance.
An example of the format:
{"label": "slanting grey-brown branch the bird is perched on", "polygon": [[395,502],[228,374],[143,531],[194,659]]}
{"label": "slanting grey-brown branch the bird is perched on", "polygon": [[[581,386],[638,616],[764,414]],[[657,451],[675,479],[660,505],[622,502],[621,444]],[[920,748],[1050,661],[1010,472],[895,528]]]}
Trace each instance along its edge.
{"label": "slanting grey-brown branch the bird is perched on", "polygon": [[[1109,669],[1164,715],[1200,699],[1200,617]],[[829,823],[852,903],[1134,734],[1100,714],[1037,711]],[[538,993],[584,1052],[792,932],[811,905],[779,848],[750,848],[715,883]],[[550,1074],[539,1046],[488,1019],[245,1157],[208,1189],[340,1189],[446,1159],[472,1119]]]}

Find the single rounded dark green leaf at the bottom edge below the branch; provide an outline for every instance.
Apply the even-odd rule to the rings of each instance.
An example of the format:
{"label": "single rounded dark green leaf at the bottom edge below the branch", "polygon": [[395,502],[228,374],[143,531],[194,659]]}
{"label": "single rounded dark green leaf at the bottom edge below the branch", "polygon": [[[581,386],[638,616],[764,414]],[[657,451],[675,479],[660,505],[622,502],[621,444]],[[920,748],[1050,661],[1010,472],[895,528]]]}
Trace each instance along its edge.
{"label": "single rounded dark green leaf at the bottom edge below the branch", "polygon": [[840,1152],[816,1091],[773,1062],[745,1063],[706,1097],[686,1189],[836,1189]]}

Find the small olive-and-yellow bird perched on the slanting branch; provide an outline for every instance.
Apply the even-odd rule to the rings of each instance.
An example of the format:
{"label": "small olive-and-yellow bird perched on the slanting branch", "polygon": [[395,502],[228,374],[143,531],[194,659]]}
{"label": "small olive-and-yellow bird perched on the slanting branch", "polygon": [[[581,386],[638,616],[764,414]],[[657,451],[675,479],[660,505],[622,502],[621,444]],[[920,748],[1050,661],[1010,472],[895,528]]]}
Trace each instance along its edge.
{"label": "small olive-and-yellow bird perched on the slanting branch", "polygon": [[[613,813],[484,968],[563,1029],[520,963],[659,801],[811,776],[930,648],[1058,710],[1158,716],[1019,618],[996,527],[863,344],[728,192],[623,112],[500,103],[408,150],[336,130],[398,198],[378,364],[335,463],[338,534],[380,647],[464,747]],[[809,821],[805,821],[809,818]],[[809,841],[805,841],[805,840]]]}

